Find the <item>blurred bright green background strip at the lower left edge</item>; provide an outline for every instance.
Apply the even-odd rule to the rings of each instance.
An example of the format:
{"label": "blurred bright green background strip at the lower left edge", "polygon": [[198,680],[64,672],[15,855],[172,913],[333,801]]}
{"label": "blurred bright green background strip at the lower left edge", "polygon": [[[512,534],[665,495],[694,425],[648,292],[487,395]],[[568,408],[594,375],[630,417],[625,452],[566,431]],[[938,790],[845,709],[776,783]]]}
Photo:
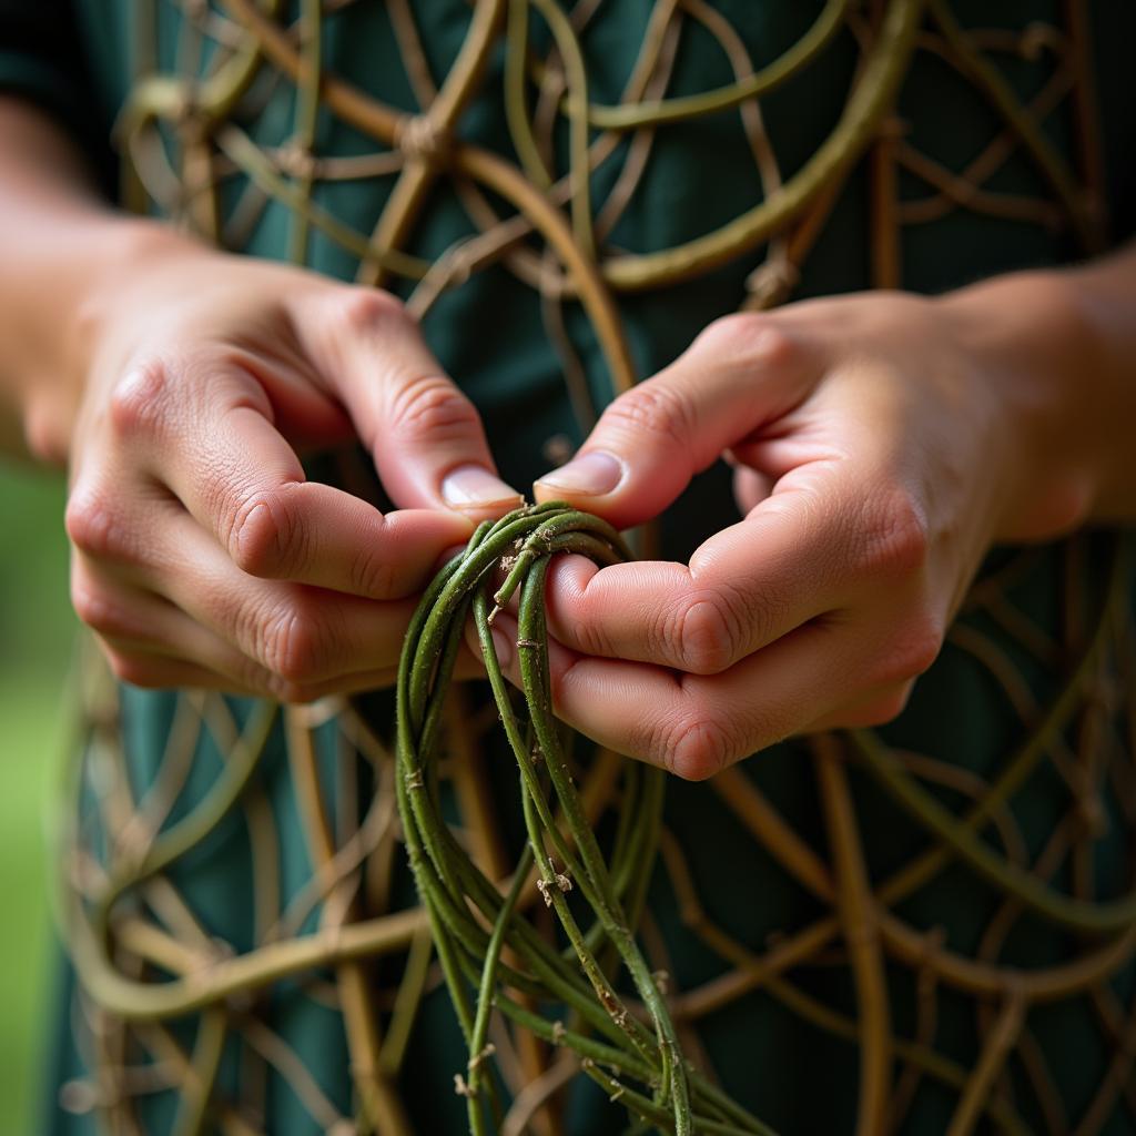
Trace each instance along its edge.
{"label": "blurred bright green background strip at the lower left edge", "polygon": [[61,477],[0,465],[0,1133],[34,1133],[52,1012],[48,828],[70,715]]}

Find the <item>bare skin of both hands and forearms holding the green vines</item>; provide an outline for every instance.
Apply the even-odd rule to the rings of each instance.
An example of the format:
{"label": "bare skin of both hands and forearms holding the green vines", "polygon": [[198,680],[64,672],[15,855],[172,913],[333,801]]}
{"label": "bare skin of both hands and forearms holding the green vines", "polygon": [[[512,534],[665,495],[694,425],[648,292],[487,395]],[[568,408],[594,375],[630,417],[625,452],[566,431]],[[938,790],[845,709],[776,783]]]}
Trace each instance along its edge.
{"label": "bare skin of both hands and forearms holding the green vines", "polygon": [[[284,700],[390,682],[438,554],[516,500],[490,473],[445,500],[493,463],[411,321],[115,217],[16,105],[0,154],[8,436],[72,470],[73,596],[116,671]],[[744,512],[687,565],[558,560],[558,712],[684,777],[894,717],[993,543],[1131,518],[1133,359],[1131,252],[716,321],[536,485],[624,527],[726,456]],[[298,450],[352,434],[400,511],[303,482]]]}

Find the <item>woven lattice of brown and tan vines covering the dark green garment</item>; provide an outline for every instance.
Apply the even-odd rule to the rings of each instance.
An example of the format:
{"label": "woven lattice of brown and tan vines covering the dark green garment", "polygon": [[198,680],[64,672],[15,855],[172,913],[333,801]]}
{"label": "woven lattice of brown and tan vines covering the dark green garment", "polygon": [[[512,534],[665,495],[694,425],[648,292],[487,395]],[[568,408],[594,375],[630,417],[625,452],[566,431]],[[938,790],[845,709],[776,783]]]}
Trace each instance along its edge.
{"label": "woven lattice of brown and tan vines covering the dark green garment", "polygon": [[[291,211],[294,260],[307,260],[318,231],[357,259],[360,282],[412,282],[409,304],[421,317],[446,290],[466,285],[490,266],[503,266],[540,294],[584,427],[594,409],[567,332],[566,306],[586,315],[612,390],[624,390],[637,377],[621,317],[625,293],[696,279],[741,260],[754,266],[741,306],[765,308],[792,298],[800,268],[860,161],[869,169],[871,272],[879,286],[903,283],[904,234],[955,210],[1064,231],[1086,251],[1099,244],[1103,191],[1085,17],[1076,0],[1064,6],[1060,25],[1013,32],[963,30],[946,0],[827,0],[807,34],[757,72],[744,41],[707,0],[657,0],[624,98],[615,105],[590,100],[579,47],[588,24],[602,18],[599,2],[578,0],[566,10],[558,0],[476,0],[461,51],[440,80],[421,49],[420,36],[428,32],[417,26],[411,3],[387,0],[419,103],[416,114],[384,105],[326,66],[325,39],[349,7],[301,0],[298,20],[289,23],[275,0],[216,6],[183,0],[178,66],[158,72],[153,14],[140,5],[139,75],[117,130],[130,159],[128,203],[152,204],[234,250],[244,247],[269,202],[283,203]],[[533,34],[537,25],[540,37]],[[695,26],[720,45],[735,81],[698,95],[668,95],[684,36]],[[860,65],[845,112],[811,158],[785,175],[763,126],[761,99],[809,68],[824,67],[837,40],[849,34]],[[550,43],[543,55],[534,48],[537,39]],[[498,76],[493,59],[502,40],[506,64]],[[962,169],[949,169],[917,150],[893,111],[904,76],[926,55],[972,84],[1000,123]],[[1049,80],[1028,102],[1001,77],[1000,56],[1049,66]],[[462,139],[462,114],[491,77],[503,87],[515,151],[509,157]],[[249,124],[278,89],[289,86],[295,89],[291,141],[258,144]],[[374,140],[373,152],[314,152],[320,111]],[[635,197],[655,140],[674,124],[720,114],[736,115],[742,124],[745,160],[754,164],[765,191],[761,202],[678,248],[643,253],[615,248],[610,235]],[[1056,114],[1076,126],[1080,145],[1072,165],[1044,130]],[[561,133],[567,147],[554,144]],[[1025,157],[1037,172],[1042,189],[1036,195],[993,187],[1011,157]],[[612,161],[620,164],[619,174],[607,198],[595,200],[588,172]],[[917,178],[924,191],[901,200],[901,174]],[[390,190],[373,232],[351,228],[315,199],[317,186],[339,181],[382,183],[384,192]],[[440,181],[452,186],[466,209],[469,235],[425,260],[407,250]],[[223,209],[222,191],[234,185],[236,203]],[[1109,796],[1122,820],[1136,824],[1130,695],[1136,659],[1122,550],[1112,552],[1103,595],[1087,594],[1083,586],[1083,556],[1080,544],[1069,545],[1068,612],[1060,637],[1037,626],[1014,600],[1014,584],[1028,571],[1033,553],[980,580],[951,633],[952,649],[987,673],[1018,722],[1012,745],[989,777],[927,754],[891,751],[868,733],[816,738],[808,749],[822,803],[825,850],[774,808],[745,769],[728,770],[707,787],[778,870],[824,908],[821,917],[782,928],[765,946],[738,941],[703,910],[686,850],[663,828],[658,871],[677,897],[685,926],[721,961],[713,979],[668,992],[690,1052],[700,1052],[701,1021],[760,988],[818,1031],[859,1046],[860,1131],[901,1127],[921,1080],[954,1094],[952,1131],[958,1133],[979,1121],[1026,1130],[1016,1097],[1022,1085],[1052,1133],[1093,1133],[1117,1114],[1136,1122],[1136,1012],[1120,1003],[1110,984],[1136,946],[1136,900],[1094,894],[1094,854],[1106,827],[1102,800]],[[989,626],[999,628],[999,636],[984,630]],[[1017,654],[1063,676],[1050,701],[1038,703],[1031,694],[1006,642]],[[65,826],[61,864],[64,924],[81,979],[75,1036],[90,1075],[64,1086],[65,1106],[98,1112],[114,1133],[134,1133],[141,1130],[145,1099],[177,1088],[179,1134],[211,1126],[227,1134],[254,1133],[264,1125],[265,1078],[272,1069],[327,1131],[410,1133],[399,1097],[400,1070],[418,1006],[440,976],[425,913],[399,910],[393,894],[401,834],[395,765],[378,736],[382,730],[356,707],[334,700],[302,709],[261,707],[239,721],[219,695],[187,692],[176,699],[156,778],[139,793],[119,734],[117,695],[94,666],[84,709],[85,745],[73,778],[83,803]],[[492,707],[471,709],[456,691],[446,708],[441,775],[452,790],[465,846],[504,888],[513,866],[494,821],[479,752],[482,736],[495,728]],[[270,733],[279,729],[314,867],[309,884],[286,903],[279,894],[282,821],[258,777],[258,760]],[[336,754],[334,801],[319,772],[319,747],[328,737]],[[186,812],[202,740],[228,757]],[[886,878],[868,874],[849,788],[850,762],[857,776],[884,786],[926,833],[925,850]],[[592,822],[626,803],[630,790],[623,767],[616,755],[600,753],[582,775]],[[1012,804],[1041,769],[1055,776],[1068,809],[1041,854],[1031,857]],[[364,801],[370,785],[376,792]],[[962,803],[951,811],[927,786],[947,788]],[[256,882],[253,943],[242,953],[212,937],[207,918],[175,883],[175,869],[192,864],[234,816],[248,833]],[[951,863],[964,864],[1003,896],[970,954],[949,949],[934,927],[916,927],[897,913]],[[518,910],[535,911],[540,926],[536,888],[523,891],[517,902]],[[1024,918],[1067,928],[1068,955],[1030,970],[1002,963],[1002,946]],[[668,969],[663,938],[650,917],[642,941],[652,964]],[[389,971],[396,976],[390,988],[376,977],[387,957],[399,960]],[[854,1016],[821,1003],[794,980],[794,971],[811,966],[846,968],[855,989]],[[888,970],[914,976],[919,991],[917,1021],[907,1035],[888,1012]],[[265,999],[285,979],[342,1013],[358,1119],[342,1113],[283,1033],[272,1028]],[[969,1064],[936,1049],[936,1008],[944,991],[970,999],[978,1019],[984,1041]],[[1052,1091],[1030,1031],[1037,1005],[1071,997],[1087,1003],[1112,1052],[1077,1116],[1068,1114]],[[194,1028],[179,1028],[185,1021]],[[512,1100],[502,1131],[562,1131],[561,1089],[579,1072],[575,1052],[556,1045],[554,1031],[550,1044],[496,1016],[487,1028]],[[234,1037],[241,1042],[242,1076],[240,1091],[229,1093],[218,1075]],[[454,1071],[440,1070],[438,1077]]]}

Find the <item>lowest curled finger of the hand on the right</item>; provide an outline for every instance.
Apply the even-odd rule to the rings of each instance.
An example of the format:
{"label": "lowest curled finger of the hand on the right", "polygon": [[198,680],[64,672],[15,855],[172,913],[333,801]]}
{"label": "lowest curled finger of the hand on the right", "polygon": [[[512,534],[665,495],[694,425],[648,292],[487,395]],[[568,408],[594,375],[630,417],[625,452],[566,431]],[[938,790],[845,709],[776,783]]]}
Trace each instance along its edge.
{"label": "lowest curled finger of the hand on the right", "polygon": [[[519,683],[516,629],[500,615],[494,642]],[[720,675],[701,676],[582,655],[550,641],[552,702],[558,717],[601,745],[701,780],[887,682],[874,646],[815,624]]]}

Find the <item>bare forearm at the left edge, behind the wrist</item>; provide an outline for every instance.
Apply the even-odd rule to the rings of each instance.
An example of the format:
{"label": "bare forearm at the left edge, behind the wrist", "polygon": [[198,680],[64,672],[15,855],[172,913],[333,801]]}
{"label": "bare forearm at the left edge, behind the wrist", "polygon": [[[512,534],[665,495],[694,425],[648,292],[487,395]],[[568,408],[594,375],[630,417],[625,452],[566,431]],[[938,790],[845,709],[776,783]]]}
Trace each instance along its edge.
{"label": "bare forearm at the left edge, behind the wrist", "polygon": [[95,301],[173,240],[100,201],[51,119],[0,99],[0,449],[66,461]]}

